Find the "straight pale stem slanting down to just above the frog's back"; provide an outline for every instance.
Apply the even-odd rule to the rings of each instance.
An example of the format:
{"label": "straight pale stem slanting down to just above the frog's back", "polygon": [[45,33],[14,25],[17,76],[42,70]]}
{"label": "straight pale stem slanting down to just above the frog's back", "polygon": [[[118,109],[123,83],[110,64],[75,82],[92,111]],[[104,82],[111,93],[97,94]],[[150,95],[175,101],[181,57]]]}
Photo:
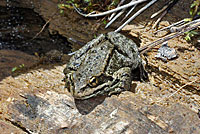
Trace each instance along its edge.
{"label": "straight pale stem slanting down to just above the frog's back", "polygon": [[140,15],[144,10],[146,10],[148,7],[150,7],[151,5],[153,5],[157,0],[152,0],[151,2],[149,2],[146,6],[144,6],[143,8],[141,8],[139,11],[137,11],[131,18],[129,18],[124,24],[122,24],[117,30],[115,30],[115,32],[119,32],[121,31],[122,28],[124,28],[129,22],[131,22],[133,19],[135,19],[135,17],[137,17],[138,15]]}

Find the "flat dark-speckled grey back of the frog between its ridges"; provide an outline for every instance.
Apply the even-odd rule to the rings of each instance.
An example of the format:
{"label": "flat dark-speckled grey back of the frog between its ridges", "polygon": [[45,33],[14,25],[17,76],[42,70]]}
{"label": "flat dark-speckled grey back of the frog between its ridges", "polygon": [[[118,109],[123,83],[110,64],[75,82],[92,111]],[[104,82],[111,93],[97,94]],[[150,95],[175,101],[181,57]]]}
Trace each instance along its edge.
{"label": "flat dark-speckled grey back of the frog between its ridges", "polygon": [[113,49],[114,46],[108,40],[105,40],[87,52],[81,66],[73,76],[75,88],[85,87],[92,77],[100,76],[104,72]]}

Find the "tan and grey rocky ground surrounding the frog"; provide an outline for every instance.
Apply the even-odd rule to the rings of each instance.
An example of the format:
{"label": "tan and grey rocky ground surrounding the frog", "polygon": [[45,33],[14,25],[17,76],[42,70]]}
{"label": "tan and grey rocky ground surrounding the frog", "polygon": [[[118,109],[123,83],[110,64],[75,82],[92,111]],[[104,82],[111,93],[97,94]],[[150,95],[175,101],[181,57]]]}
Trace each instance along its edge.
{"label": "tan and grey rocky ground surrounding the frog", "polygon": [[[122,33],[132,39],[139,38],[141,46],[165,35],[166,32],[153,34],[154,21],[149,19],[164,1],[160,0],[137,17]],[[57,0],[15,2],[16,6],[33,9],[49,21],[50,33],[65,36],[73,50],[94,35],[112,31],[118,25],[116,22],[105,30],[101,19],[86,19],[74,10],[60,15]],[[180,0],[158,28],[187,17],[191,2]],[[5,6],[6,1],[0,5]],[[21,51],[0,50],[1,132],[198,134],[199,44],[187,43],[183,37],[178,37],[170,40],[169,46],[176,49],[178,58],[168,62],[156,59],[159,46],[143,57],[149,73],[148,82],[133,81],[131,91],[84,101],[74,100],[64,89],[63,69],[70,58],[65,53],[58,54],[60,62],[55,63],[48,62],[56,59],[54,56],[49,58],[48,54],[47,58],[38,58]],[[25,68],[11,72],[13,67],[21,64],[25,64]]]}

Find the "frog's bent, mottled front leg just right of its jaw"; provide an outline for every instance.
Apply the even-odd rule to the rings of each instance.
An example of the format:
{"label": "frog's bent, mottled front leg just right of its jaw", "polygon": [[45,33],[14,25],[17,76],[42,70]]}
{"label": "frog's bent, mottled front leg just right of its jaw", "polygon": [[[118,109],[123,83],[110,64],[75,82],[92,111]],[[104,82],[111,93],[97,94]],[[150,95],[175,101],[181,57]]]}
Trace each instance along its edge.
{"label": "frog's bent, mottled front leg just right of its jaw", "polygon": [[129,90],[131,87],[131,68],[123,67],[113,74],[113,84],[107,90],[108,95],[121,93],[122,91]]}

